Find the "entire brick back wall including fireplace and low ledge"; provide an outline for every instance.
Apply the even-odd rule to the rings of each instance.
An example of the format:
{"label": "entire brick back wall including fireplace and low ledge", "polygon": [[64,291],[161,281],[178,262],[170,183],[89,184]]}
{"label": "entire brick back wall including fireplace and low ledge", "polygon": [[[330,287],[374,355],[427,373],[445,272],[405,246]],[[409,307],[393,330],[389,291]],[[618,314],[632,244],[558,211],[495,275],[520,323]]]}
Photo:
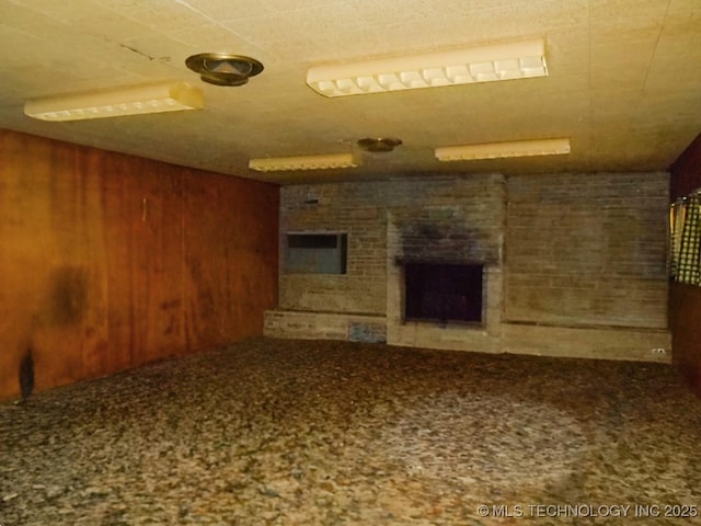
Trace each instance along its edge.
{"label": "entire brick back wall including fireplace and low ledge", "polygon": [[289,232],[344,236],[342,272],[281,262],[276,338],[668,361],[666,173],[407,176],[283,187]]}

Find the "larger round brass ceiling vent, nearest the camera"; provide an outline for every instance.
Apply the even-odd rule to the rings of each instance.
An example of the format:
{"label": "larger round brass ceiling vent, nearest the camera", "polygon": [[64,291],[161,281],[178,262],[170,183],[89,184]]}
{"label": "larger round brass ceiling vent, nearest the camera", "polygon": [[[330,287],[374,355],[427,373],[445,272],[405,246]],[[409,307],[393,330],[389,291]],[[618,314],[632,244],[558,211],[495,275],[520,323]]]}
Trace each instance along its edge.
{"label": "larger round brass ceiling vent, nearest the camera", "polygon": [[243,85],[249,78],[263,71],[256,59],[227,53],[200,53],[187,57],[185,66],[199,73],[199,78],[216,85]]}

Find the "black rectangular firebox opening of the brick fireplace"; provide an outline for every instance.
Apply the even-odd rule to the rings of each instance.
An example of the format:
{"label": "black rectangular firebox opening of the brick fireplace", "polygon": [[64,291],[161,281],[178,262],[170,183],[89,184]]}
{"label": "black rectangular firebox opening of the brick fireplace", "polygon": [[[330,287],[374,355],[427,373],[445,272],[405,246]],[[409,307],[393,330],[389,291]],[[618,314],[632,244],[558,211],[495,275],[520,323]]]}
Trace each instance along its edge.
{"label": "black rectangular firebox opening of the brick fireplace", "polygon": [[482,322],[482,264],[404,263],[404,319]]}

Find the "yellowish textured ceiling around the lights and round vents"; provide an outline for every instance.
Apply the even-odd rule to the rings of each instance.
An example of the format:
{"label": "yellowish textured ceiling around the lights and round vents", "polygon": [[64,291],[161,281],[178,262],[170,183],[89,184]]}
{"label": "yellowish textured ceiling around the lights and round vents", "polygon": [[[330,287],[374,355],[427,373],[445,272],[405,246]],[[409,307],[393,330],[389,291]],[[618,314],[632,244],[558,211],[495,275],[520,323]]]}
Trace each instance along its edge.
{"label": "yellowish textured ceiling around the lights and round vents", "polygon": [[[550,76],[326,99],[310,66],[544,37]],[[0,128],[294,183],[438,172],[657,171],[701,132],[699,0],[0,0]],[[185,58],[230,52],[265,70],[239,88]],[[177,79],[192,112],[46,123],[25,99]],[[250,158],[356,152],[356,169],[261,174]],[[440,163],[436,146],[570,137],[566,156]]]}

